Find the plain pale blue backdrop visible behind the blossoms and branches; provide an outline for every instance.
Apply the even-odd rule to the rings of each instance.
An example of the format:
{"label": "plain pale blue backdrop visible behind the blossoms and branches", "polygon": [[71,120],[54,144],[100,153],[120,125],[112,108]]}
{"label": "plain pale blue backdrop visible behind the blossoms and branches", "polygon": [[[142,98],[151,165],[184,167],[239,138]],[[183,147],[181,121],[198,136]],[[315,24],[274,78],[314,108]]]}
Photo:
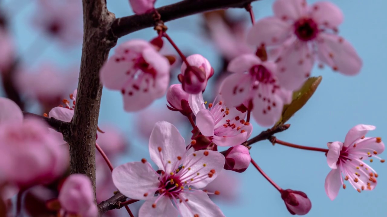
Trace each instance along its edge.
{"label": "plain pale blue backdrop visible behind the blossoms and branches", "polygon": [[[109,10],[114,12],[116,17],[133,14],[127,0],[107,1]],[[156,7],[175,2],[178,1],[158,0]],[[273,0],[254,2],[252,5],[256,19],[271,15],[273,2]],[[313,2],[315,1],[308,1]],[[387,79],[385,70],[387,2],[384,0],[373,0],[372,3],[361,0],[332,2],[336,3],[345,15],[344,23],[339,28],[340,34],[353,44],[363,58],[364,66],[360,75],[354,77],[334,73],[330,68],[324,70],[315,68],[312,75],[322,75],[322,83],[307,105],[289,120],[290,129],[277,134],[283,141],[325,148],[327,142],[343,141],[348,130],[356,124],[376,125],[377,129],[370,132],[370,136],[385,137],[387,134],[385,125],[387,97],[384,86]],[[61,66],[79,64],[80,47],[62,52],[55,41],[45,38],[31,27],[28,19],[34,10],[33,1],[8,0],[2,2],[1,6],[7,8],[10,14],[16,13],[11,20],[12,34],[20,53],[23,54],[26,66],[34,67],[41,61],[53,61]],[[247,12],[243,9],[231,11],[248,18]],[[211,62],[215,71],[219,71],[221,67],[219,54],[211,42],[201,36],[200,22],[202,22],[200,15],[168,22],[168,33],[183,51],[202,54]],[[144,29],[121,38],[118,44],[134,38],[149,40],[154,35],[151,28]],[[40,44],[38,48],[45,49],[39,58],[34,57],[39,50],[31,52],[27,49],[33,43],[38,43]],[[164,103],[165,98],[162,98],[153,106]],[[136,137],[139,127],[134,120],[136,115],[137,113],[128,114],[123,111],[120,92],[104,89],[99,122],[117,124],[132,144],[128,154],[121,159],[122,163],[149,157],[147,140]],[[263,130],[265,129],[254,124],[253,136]],[[332,202],[324,190],[325,176],[330,168],[323,153],[280,145],[272,146],[269,141],[262,141],[252,145],[251,156],[282,188],[307,193],[313,204],[307,216],[386,216],[386,164],[380,164],[378,161],[372,163],[380,175],[375,190],[358,193],[348,186],[346,190],[341,189],[338,197]],[[277,190],[253,166],[238,176],[240,178],[238,201],[232,205],[218,203],[226,216],[290,216]]]}

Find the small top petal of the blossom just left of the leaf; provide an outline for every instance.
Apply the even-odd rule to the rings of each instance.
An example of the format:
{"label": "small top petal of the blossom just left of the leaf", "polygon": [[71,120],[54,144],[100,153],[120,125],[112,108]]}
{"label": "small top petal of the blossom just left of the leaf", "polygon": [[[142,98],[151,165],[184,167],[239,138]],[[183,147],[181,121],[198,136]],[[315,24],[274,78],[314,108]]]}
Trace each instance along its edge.
{"label": "small top petal of the blossom just left of the leaf", "polygon": [[248,72],[253,66],[261,64],[261,60],[253,54],[243,54],[230,61],[227,71],[234,73]]}

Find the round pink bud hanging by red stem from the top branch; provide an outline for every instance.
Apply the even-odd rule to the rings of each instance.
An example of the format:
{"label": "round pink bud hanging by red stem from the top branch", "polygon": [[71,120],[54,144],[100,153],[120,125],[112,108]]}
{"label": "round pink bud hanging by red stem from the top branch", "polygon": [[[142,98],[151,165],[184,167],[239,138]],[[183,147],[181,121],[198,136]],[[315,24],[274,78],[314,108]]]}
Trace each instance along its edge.
{"label": "round pink bud hanging by red stem from the top branch", "polygon": [[204,91],[208,79],[214,75],[214,69],[210,62],[200,54],[193,54],[186,59],[190,67],[183,62],[180,68],[181,74],[178,75],[183,90],[192,94]]}

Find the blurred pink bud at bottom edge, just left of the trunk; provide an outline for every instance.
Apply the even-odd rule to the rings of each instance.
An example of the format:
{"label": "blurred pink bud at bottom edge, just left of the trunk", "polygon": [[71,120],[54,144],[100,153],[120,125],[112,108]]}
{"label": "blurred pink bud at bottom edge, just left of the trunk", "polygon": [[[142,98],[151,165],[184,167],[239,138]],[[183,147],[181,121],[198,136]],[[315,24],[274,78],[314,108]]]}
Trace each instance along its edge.
{"label": "blurred pink bud at bottom edge, just left of the trunk", "polygon": [[79,214],[82,217],[98,216],[91,181],[83,174],[73,174],[66,178],[58,200],[68,214]]}

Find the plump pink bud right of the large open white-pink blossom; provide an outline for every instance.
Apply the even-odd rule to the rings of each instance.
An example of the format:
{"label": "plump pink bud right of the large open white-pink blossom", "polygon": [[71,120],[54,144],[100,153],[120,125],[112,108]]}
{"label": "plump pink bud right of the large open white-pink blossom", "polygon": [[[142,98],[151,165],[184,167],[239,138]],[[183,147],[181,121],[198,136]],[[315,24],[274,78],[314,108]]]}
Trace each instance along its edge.
{"label": "plump pink bud right of the large open white-pink blossom", "polygon": [[243,145],[230,147],[226,154],[225,170],[232,170],[238,173],[244,172],[250,165],[250,153],[248,148]]}

